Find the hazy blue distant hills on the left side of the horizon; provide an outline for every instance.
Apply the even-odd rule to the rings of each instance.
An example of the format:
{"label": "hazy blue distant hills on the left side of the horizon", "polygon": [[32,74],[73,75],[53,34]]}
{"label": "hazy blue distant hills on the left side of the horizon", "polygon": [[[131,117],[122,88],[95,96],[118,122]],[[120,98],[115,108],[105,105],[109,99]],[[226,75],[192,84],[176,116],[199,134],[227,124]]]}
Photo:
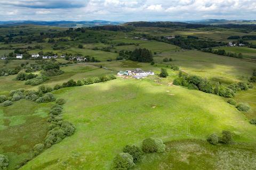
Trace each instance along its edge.
{"label": "hazy blue distant hills on the left side of the horizon", "polygon": [[124,23],[122,21],[103,21],[103,20],[93,20],[93,21],[0,21],[1,26],[12,27],[15,25],[45,25],[52,27],[94,27],[102,25],[119,25]]}

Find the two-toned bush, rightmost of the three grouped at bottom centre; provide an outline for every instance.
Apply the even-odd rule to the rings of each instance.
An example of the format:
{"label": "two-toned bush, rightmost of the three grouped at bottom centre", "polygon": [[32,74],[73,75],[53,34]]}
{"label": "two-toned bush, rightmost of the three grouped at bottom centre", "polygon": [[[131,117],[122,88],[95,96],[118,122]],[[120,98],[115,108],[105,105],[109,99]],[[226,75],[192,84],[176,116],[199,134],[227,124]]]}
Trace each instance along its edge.
{"label": "two-toned bush, rightmost of the three grouped at bottom centre", "polygon": [[161,139],[147,138],[142,141],[142,150],[144,152],[163,152],[165,145]]}

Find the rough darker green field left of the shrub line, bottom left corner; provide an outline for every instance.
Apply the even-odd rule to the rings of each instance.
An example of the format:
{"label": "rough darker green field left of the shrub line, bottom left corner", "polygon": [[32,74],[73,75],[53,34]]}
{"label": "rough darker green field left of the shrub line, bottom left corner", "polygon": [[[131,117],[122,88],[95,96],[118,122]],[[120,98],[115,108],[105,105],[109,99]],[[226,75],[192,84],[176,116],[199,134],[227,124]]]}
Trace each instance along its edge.
{"label": "rough darker green field left of the shrub line, bottom left corner", "polygon": [[0,151],[9,157],[9,169],[30,158],[34,145],[44,141],[51,105],[25,99],[9,107],[0,105]]}

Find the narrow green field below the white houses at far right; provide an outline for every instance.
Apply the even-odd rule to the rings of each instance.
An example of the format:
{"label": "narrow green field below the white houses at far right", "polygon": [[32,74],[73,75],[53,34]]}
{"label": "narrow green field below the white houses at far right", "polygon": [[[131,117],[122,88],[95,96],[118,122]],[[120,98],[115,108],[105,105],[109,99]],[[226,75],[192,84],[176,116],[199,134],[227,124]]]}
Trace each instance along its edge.
{"label": "narrow green field below the white houses at far right", "polygon": [[214,49],[225,49],[226,52],[242,53],[244,58],[256,59],[256,49],[248,47],[219,47]]}

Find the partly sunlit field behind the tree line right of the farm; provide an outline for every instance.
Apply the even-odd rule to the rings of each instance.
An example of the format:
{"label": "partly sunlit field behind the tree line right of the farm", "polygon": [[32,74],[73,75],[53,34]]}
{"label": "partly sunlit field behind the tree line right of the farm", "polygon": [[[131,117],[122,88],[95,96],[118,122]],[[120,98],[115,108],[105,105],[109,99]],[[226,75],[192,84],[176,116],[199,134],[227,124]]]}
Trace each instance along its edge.
{"label": "partly sunlit field behind the tree line right of the farm", "polygon": [[211,53],[203,53],[189,50],[179,53],[158,54],[155,60],[162,62],[164,57],[171,57],[172,62],[180,66],[182,71],[189,74],[200,75],[206,78],[219,78],[230,81],[247,80],[255,69],[255,63],[242,59],[220,56]]}

